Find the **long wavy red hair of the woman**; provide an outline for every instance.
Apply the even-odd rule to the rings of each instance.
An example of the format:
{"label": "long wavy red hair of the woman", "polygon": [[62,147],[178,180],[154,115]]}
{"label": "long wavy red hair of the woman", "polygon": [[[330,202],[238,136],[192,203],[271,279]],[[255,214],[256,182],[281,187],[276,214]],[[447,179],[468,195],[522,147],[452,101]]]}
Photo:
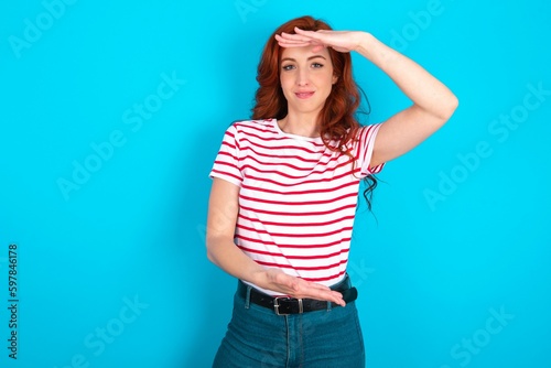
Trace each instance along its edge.
{"label": "long wavy red hair of the woman", "polygon": [[[295,33],[298,26],[305,31],[331,30],[322,20],[310,15],[293,19],[279,26],[266,43],[260,63],[258,64],[256,105],[252,108],[252,119],[282,119],[288,113],[288,102],[280,84],[280,61],[282,47],[274,39],[276,34]],[[341,151],[359,128],[354,115],[359,106],[359,91],[352,75],[352,58],[349,53],[339,53],[328,47],[334,74],[338,77],[325,105],[320,111],[320,133],[325,145]],[[331,141],[338,142],[337,147]]]}

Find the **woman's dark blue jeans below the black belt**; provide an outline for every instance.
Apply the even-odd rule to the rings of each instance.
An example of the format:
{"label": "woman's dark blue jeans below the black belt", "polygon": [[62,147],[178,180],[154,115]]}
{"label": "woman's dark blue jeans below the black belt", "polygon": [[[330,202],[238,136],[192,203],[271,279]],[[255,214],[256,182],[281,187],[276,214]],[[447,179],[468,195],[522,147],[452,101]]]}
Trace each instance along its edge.
{"label": "woman's dark blue jeans below the black belt", "polygon": [[364,338],[355,302],[277,315],[236,294],[231,322],[213,367],[364,368]]}

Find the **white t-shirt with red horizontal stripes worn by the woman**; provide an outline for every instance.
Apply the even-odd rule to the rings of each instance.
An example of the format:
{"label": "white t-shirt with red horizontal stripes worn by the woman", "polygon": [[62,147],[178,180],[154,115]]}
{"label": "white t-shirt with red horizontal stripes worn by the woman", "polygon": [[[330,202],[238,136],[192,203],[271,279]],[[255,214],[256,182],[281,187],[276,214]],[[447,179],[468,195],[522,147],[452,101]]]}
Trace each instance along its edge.
{"label": "white t-shirt with red horizontal stripes worn by the woman", "polygon": [[327,286],[341,281],[359,182],[383,166],[369,167],[379,127],[361,127],[348,143],[353,167],[321,138],[285,133],[276,119],[233,123],[210,176],[240,187],[236,246],[264,267]]}

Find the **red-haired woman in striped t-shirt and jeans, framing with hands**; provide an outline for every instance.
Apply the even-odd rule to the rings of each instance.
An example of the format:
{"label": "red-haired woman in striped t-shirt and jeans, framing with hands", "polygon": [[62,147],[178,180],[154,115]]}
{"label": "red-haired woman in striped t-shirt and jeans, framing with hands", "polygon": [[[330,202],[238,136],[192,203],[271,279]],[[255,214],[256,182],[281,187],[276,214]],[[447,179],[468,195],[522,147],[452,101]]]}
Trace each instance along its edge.
{"label": "red-haired woman in striped t-shirt and jeans, framing with hands", "polygon": [[[359,126],[350,52],[412,105]],[[238,279],[214,367],[364,367],[346,273],[360,181],[441,128],[457,98],[371,34],[311,17],[276,30],[257,80],[252,119],[227,129],[210,172],[208,259]]]}

